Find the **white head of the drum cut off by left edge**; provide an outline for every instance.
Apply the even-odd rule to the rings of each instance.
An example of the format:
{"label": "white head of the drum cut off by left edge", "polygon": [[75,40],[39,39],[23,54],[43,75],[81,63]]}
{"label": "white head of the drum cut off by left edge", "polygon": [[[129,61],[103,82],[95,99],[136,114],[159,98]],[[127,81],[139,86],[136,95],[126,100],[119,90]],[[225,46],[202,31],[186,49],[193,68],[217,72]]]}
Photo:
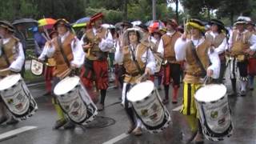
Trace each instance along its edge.
{"label": "white head of the drum cut off by left edge", "polygon": [[14,86],[22,78],[21,74],[12,74],[0,80],[0,90],[6,90]]}

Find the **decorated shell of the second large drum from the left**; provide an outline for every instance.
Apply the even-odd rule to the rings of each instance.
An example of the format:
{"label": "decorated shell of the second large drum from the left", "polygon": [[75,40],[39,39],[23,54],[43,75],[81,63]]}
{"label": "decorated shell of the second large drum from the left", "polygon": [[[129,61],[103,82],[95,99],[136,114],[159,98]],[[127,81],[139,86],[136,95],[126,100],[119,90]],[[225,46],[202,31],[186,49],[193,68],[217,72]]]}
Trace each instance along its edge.
{"label": "decorated shell of the second large drum from the left", "polygon": [[74,89],[66,94],[56,95],[56,97],[64,113],[74,123],[86,125],[98,114],[97,107],[80,81]]}

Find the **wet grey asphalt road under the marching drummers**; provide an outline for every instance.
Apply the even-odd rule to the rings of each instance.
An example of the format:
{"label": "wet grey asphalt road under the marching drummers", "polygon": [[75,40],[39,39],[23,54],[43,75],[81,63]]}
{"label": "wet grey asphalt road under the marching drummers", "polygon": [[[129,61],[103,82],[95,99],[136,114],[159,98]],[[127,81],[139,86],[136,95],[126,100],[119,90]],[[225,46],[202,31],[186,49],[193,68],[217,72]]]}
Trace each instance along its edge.
{"label": "wet grey asphalt road under the marching drummers", "polygon": [[[226,86],[230,91],[230,82],[226,80]],[[255,86],[254,86],[255,87]],[[10,130],[16,130],[23,126],[36,126],[33,130],[27,130],[22,134],[17,134],[11,138],[2,140],[4,144],[84,144],[84,143],[104,143],[115,142],[118,144],[182,144],[190,132],[185,118],[175,108],[181,106],[182,88],[179,91],[178,104],[171,102],[166,105],[170,111],[172,124],[159,134],[150,134],[143,131],[141,137],[127,135],[129,123],[122,106],[118,103],[121,90],[110,89],[107,91],[106,109],[99,112],[99,116],[111,118],[110,126],[99,128],[98,126],[88,126],[87,128],[77,126],[75,130],[52,130],[52,126],[57,118],[54,106],[51,104],[50,96],[43,96],[44,86],[38,84],[30,86],[30,91],[38,102],[38,112],[32,118],[19,122],[15,126],[0,126],[0,137]],[[159,91],[163,97],[163,90]],[[171,90],[170,90],[171,94]],[[256,93],[249,91],[246,97],[229,97],[230,109],[234,123],[234,134],[222,142],[210,142],[205,139],[206,144],[254,144],[256,143]],[[97,124],[97,123],[96,123]]]}

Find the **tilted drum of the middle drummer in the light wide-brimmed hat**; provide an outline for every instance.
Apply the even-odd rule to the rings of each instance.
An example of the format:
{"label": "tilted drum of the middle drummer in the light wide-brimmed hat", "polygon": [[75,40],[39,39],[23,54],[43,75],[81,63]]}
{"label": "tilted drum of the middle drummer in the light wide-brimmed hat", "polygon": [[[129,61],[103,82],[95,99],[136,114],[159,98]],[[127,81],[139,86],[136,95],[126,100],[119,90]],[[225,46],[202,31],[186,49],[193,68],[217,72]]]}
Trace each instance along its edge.
{"label": "tilted drum of the middle drummer in the light wide-brimmed hat", "polygon": [[170,124],[170,114],[162,105],[158,90],[154,88],[154,82],[138,83],[129,90],[127,99],[132,103],[135,113],[146,130],[151,133],[158,133]]}

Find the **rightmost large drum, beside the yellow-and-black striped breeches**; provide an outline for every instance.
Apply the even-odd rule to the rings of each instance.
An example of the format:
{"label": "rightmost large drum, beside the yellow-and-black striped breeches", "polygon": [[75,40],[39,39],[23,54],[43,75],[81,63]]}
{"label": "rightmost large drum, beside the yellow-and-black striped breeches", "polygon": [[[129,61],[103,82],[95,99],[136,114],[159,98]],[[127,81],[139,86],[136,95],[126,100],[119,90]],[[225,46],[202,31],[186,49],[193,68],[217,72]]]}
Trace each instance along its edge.
{"label": "rightmost large drum, beside the yellow-and-black striped breeches", "polygon": [[194,94],[200,114],[202,132],[211,141],[230,137],[233,132],[226,86],[210,84],[202,86]]}

